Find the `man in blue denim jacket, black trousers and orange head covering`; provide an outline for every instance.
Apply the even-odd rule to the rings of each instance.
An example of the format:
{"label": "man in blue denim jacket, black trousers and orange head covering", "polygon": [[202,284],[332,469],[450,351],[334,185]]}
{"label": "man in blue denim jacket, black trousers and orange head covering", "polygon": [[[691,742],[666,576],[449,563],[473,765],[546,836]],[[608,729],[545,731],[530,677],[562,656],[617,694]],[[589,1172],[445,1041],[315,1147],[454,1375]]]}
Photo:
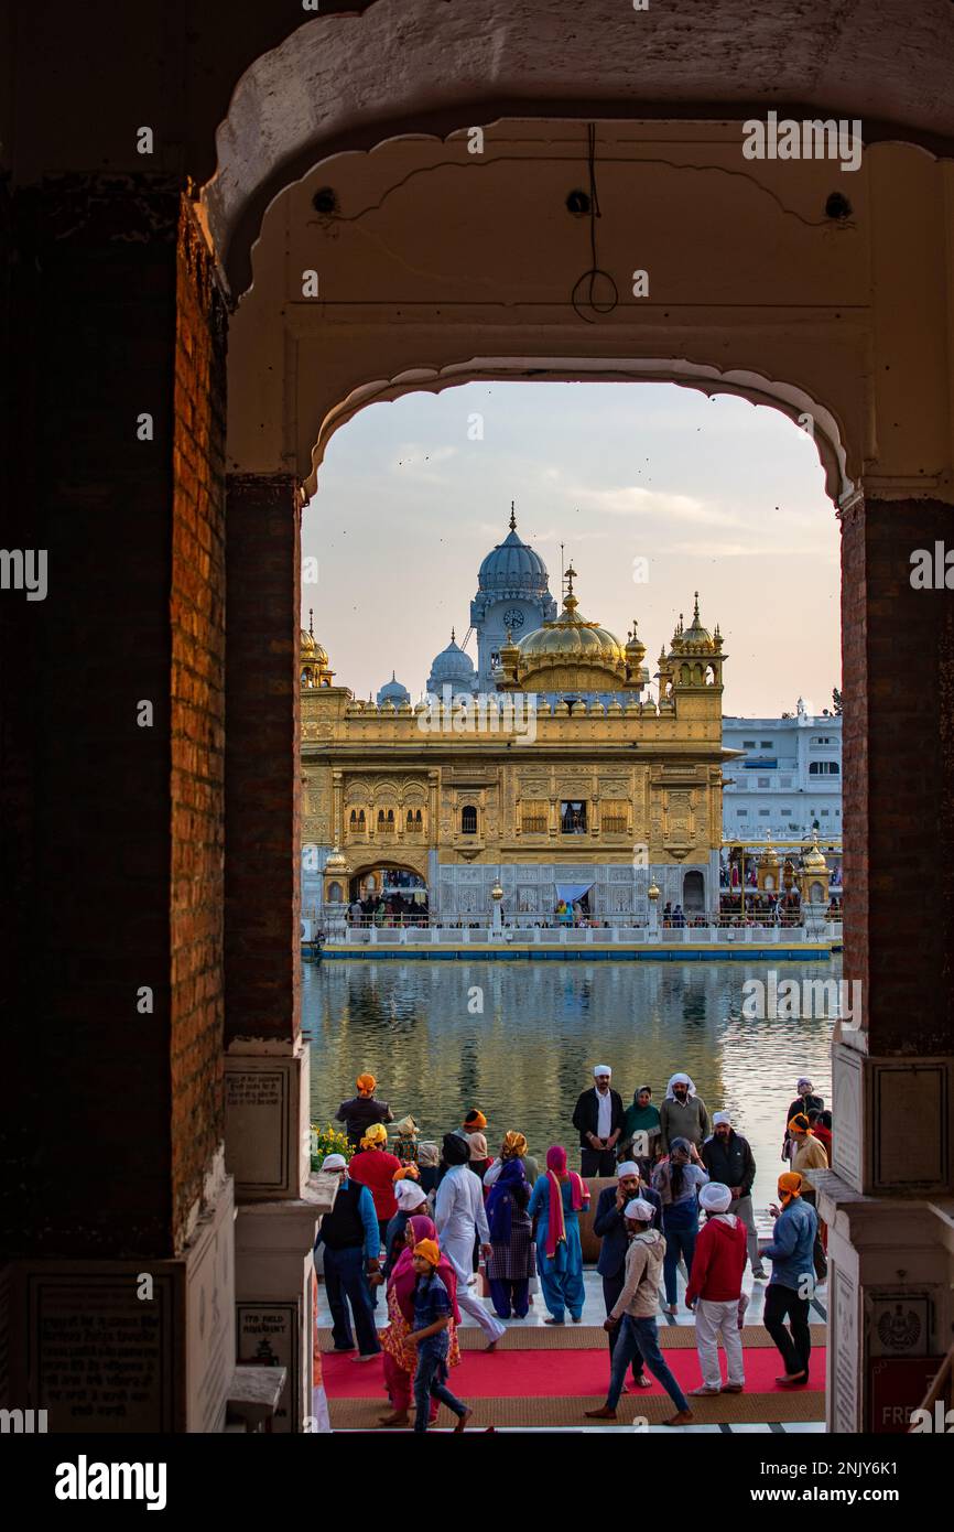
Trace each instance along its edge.
{"label": "man in blue denim jacket, black trousers and orange head covering", "polygon": [[[818,1213],[805,1203],[801,1190],[802,1180],[796,1170],[779,1175],[778,1195],[782,1206],[781,1212],[775,1203],[770,1207],[775,1230],[772,1244],[764,1250],[772,1261],[772,1276],[763,1322],[786,1365],[782,1377],[775,1379],[782,1388],[799,1388],[809,1382],[812,1354],[809,1304],[815,1291],[812,1252],[818,1235]],[[786,1330],[786,1319],[790,1331]]]}

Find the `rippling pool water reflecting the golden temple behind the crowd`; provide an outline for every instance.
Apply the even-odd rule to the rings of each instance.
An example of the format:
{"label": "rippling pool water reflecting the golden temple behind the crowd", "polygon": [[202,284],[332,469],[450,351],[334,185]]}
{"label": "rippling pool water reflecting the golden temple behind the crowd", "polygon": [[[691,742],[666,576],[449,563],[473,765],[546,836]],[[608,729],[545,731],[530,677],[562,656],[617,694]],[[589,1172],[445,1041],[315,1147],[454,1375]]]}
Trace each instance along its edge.
{"label": "rippling pool water reflecting the golden temple behind the crowd", "polygon": [[[779,984],[839,979],[841,961],[772,970]],[[439,1137],[479,1106],[492,1152],[518,1128],[539,1157],[564,1143],[576,1160],[570,1118],[593,1065],[611,1065],[625,1103],[648,1083],[658,1105],[669,1075],[684,1069],[709,1112],[729,1109],[750,1140],[755,1203],[764,1207],[782,1169],[784,1115],[799,1074],[830,1103],[833,1023],[743,1019],[744,979],[767,984],[769,965],[306,964],[312,1121],[328,1121],[354,1095],[355,1075],[371,1069],[395,1117],[412,1112],[426,1137]]]}

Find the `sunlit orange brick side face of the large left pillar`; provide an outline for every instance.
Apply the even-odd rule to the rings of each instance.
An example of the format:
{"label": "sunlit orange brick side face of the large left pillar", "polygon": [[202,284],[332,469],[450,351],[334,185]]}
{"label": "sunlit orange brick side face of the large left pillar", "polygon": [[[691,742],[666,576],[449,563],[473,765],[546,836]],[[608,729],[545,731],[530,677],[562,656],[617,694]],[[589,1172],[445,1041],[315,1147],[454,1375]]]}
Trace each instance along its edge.
{"label": "sunlit orange brick side face of the large left pillar", "polygon": [[176,1242],[222,1118],[225,305],[188,202],[176,259],[172,525],[172,1175]]}

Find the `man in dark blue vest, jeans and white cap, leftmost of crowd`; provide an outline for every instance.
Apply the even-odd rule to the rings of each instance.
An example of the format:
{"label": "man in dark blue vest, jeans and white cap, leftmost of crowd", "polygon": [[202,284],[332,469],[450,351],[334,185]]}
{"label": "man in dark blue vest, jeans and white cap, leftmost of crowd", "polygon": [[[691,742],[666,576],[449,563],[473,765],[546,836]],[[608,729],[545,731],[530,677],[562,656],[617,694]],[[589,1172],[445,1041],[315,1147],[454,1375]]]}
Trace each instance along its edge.
{"label": "man in dark blue vest, jeans and white cap, leftmost of crowd", "polygon": [[335,1351],[354,1351],[354,1336],[348,1304],[354,1313],[358,1336],[355,1362],[371,1362],[381,1344],[374,1324],[374,1305],[368,1278],[378,1270],[381,1238],[374,1201],[366,1186],[348,1177],[348,1160],[341,1154],[325,1155],[322,1170],[338,1175],[340,1186],[334,1206],[319,1224],[315,1252],[325,1246],[325,1287],[332,1319]]}

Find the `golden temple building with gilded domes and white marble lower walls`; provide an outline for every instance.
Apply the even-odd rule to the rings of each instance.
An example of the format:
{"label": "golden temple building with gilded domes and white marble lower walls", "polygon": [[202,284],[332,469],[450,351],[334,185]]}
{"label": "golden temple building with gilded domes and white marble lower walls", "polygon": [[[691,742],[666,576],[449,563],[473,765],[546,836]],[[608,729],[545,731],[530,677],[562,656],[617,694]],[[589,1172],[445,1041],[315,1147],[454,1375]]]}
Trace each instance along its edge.
{"label": "golden temple building with gilded domes and white marble lower walls", "polygon": [[[495,550],[510,565],[513,538],[511,518]],[[525,624],[519,642],[508,628],[492,654],[481,645],[493,691],[452,639],[430,676],[447,677],[443,696],[415,705],[392,677],[383,700],[363,702],[302,633],[305,908],[380,890],[387,870],[417,875],[446,921],[487,918],[498,879],[516,924],[550,919],[570,895],[596,919],[645,921],[651,882],[674,905],[718,907],[718,628],[703,627],[697,599],[660,653],[654,697],[635,624],[623,643],[588,622],[574,579],[559,616]],[[519,570],[490,591],[508,614],[515,581]],[[539,591],[522,594],[547,610]]]}

